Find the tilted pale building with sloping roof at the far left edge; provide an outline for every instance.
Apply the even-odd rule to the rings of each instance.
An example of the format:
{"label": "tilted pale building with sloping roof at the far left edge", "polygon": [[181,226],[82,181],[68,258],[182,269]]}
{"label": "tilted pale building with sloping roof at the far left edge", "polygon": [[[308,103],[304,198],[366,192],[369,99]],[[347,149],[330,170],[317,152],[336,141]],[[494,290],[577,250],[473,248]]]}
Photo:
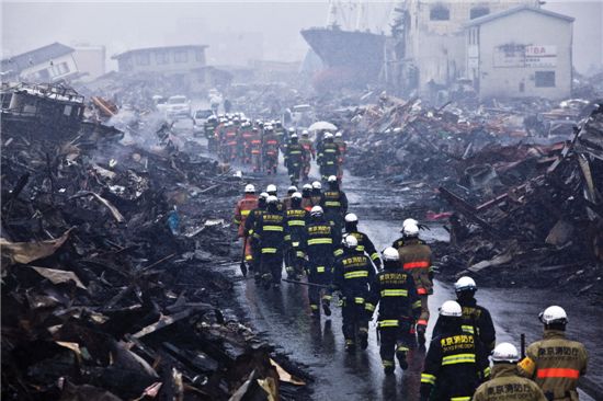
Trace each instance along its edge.
{"label": "tilted pale building with sloping roof at the far left edge", "polygon": [[60,43],[8,57],[2,60],[3,80],[49,83],[79,76],[75,49]]}

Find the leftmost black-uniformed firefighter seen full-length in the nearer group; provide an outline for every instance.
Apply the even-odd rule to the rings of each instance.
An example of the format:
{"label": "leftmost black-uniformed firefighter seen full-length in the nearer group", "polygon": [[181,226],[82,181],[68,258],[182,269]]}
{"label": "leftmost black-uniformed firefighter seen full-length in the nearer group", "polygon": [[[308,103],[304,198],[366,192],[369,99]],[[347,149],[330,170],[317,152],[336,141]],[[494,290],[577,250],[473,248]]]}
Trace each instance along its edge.
{"label": "leftmost black-uniformed firefighter seen full-length in the nearer group", "polygon": [[285,217],[278,211],[278,198],[269,195],[266,211],[259,216],[253,232],[262,254],[260,271],[265,289],[271,285],[274,289],[281,287],[286,236]]}

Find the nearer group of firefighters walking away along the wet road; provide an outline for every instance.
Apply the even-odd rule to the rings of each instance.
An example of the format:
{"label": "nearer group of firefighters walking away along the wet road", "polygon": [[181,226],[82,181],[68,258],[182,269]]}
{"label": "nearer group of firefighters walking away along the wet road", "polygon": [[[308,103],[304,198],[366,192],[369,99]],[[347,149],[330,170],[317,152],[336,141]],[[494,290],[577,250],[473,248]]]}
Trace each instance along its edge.
{"label": "nearer group of firefighters walking away along the wet road", "polygon": [[[346,195],[331,174],[325,190],[318,181],[300,192],[292,185],[282,199],[275,185],[258,196],[248,184],[235,222],[244,243],[244,275],[249,268],[260,286],[277,290],[284,264],[285,280],[308,286],[317,319],[329,317],[333,297],[339,299],[346,351],[366,350],[376,309],[386,375],[394,374],[396,360],[407,369],[409,351],[424,347],[433,270],[417,220],[405,220],[401,237],[377,252],[359,230],[357,216],[348,213]],[[588,356],[581,343],[566,337],[562,308],[551,306],[541,313],[544,339],[520,355],[511,343],[497,345],[491,316],[475,299],[473,278],[460,277],[455,291],[456,300],[440,307],[421,374],[421,401],[578,400]]]}

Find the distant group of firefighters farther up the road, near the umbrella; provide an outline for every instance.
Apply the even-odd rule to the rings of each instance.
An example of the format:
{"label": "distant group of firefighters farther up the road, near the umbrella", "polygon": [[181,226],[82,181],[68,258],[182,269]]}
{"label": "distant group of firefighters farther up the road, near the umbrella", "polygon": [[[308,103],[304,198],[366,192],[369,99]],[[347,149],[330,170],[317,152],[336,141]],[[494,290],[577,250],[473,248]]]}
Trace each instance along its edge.
{"label": "distant group of firefighters farther up the road, near the umbrella", "polygon": [[316,160],[322,180],[330,175],[342,179],[346,145],[341,131],[318,131],[310,139],[285,128],[280,121],[251,121],[241,113],[211,116],[204,125],[207,147],[225,163],[252,167],[253,172],[276,174],[278,153],[283,153],[292,185],[308,181],[310,160]]}

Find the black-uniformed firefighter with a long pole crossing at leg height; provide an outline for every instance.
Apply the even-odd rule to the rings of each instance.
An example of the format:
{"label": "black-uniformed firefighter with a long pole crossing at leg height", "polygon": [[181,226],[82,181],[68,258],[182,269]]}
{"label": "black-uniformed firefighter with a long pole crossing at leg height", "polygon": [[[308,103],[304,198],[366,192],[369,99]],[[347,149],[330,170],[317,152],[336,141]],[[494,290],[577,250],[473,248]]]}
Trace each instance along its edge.
{"label": "black-uniformed firefighter with a long pole crossing at leg height", "polygon": [[[308,298],[310,309],[315,317],[320,317],[319,302],[322,302],[322,310],[326,316],[331,316],[331,290],[329,286],[332,280],[332,268],[334,263],[335,242],[333,242],[333,228],[325,219],[320,206],[310,210],[310,221],[304,231],[302,239],[302,254],[307,259],[306,274],[308,283],[326,286],[319,288],[310,286]],[[322,297],[320,296],[322,293]]]}

